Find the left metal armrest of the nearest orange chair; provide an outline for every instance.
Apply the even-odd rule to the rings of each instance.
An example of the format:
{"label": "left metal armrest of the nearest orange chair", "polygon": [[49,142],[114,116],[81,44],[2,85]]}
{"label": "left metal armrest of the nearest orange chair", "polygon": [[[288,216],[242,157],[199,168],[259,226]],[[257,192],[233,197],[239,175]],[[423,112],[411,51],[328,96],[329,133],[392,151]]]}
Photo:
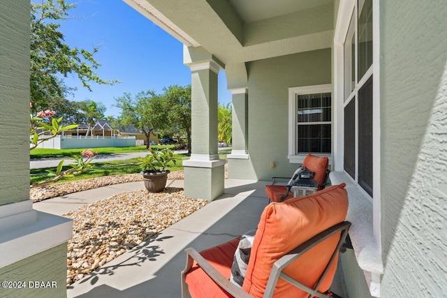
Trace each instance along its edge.
{"label": "left metal armrest of the nearest orange chair", "polygon": [[231,283],[225,276],[219,273],[214,267],[210,265],[205,258],[200,255],[194,248],[186,248],[186,267],[184,271],[182,271],[182,281],[184,284],[184,280],[186,278],[186,274],[191,270],[193,265],[193,260],[197,262],[197,264],[200,266],[200,268],[205,271],[205,273],[212,278],[212,280],[221,286],[224,290],[226,290],[230,295],[233,295],[234,297],[241,297],[241,298],[253,298],[253,296],[249,295],[247,292],[244,292],[242,288],[238,287],[234,283]]}

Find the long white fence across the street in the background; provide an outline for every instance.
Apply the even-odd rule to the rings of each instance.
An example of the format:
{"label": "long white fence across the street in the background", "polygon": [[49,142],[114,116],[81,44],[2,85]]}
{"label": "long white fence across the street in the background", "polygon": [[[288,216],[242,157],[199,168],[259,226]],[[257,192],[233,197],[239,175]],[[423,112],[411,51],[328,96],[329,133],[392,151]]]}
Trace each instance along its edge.
{"label": "long white fence across the street in the background", "polygon": [[85,135],[58,135],[38,145],[38,148],[75,149],[99,147],[131,147],[136,145],[135,136],[130,137],[86,137]]}

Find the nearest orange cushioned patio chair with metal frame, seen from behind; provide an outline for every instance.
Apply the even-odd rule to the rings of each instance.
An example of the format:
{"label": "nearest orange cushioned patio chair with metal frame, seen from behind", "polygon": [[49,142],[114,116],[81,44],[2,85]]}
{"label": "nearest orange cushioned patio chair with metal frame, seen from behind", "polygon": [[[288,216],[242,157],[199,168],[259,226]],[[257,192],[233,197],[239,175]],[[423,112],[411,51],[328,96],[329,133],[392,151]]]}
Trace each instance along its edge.
{"label": "nearest orange cushioned patio chair with metal frame, seen from behind", "polygon": [[272,202],[254,237],[242,288],[228,281],[239,239],[186,249],[182,297],[330,297],[339,248],[351,223],[345,184]]}

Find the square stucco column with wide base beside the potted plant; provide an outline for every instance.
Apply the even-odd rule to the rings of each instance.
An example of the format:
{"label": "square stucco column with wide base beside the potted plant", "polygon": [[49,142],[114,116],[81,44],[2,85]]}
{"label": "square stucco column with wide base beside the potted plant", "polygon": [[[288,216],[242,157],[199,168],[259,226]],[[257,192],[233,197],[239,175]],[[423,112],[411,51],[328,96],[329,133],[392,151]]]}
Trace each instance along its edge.
{"label": "square stucco column with wide base beside the potted plant", "polygon": [[[195,54],[201,59],[194,61]],[[186,48],[184,60],[191,68],[191,158],[183,162],[184,195],[211,201],[224,188],[225,161],[217,152],[217,74],[221,66],[201,48]]]}

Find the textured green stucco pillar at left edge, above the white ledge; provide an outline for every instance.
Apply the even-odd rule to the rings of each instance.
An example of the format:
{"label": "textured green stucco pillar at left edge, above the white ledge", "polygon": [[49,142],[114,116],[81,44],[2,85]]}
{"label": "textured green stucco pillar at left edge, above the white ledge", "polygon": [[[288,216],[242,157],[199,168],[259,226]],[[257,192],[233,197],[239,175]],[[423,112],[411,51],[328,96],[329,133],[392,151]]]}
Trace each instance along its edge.
{"label": "textured green stucco pillar at left edge, above the white ledge", "polygon": [[29,199],[29,1],[0,1],[0,205]]}

